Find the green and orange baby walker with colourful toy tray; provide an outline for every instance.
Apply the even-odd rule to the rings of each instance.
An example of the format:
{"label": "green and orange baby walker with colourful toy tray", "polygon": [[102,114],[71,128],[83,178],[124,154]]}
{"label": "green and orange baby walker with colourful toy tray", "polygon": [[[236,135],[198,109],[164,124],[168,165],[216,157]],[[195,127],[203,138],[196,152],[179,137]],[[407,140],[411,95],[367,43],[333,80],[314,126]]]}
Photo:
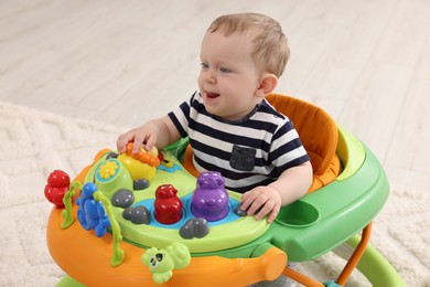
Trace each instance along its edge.
{"label": "green and orange baby walker with colourful toy tray", "polygon": [[[311,157],[305,196],[268,224],[240,212],[240,194],[219,173],[196,172],[186,139],[138,155],[101,150],[72,182],[60,170],[47,179],[47,246],[67,274],[57,286],[246,286],[281,274],[343,286],[355,267],[374,285],[404,286],[367,245],[389,190],[375,156],[321,108],[278,94],[268,100],[293,120]],[[286,267],[344,243],[355,251],[332,281]]]}

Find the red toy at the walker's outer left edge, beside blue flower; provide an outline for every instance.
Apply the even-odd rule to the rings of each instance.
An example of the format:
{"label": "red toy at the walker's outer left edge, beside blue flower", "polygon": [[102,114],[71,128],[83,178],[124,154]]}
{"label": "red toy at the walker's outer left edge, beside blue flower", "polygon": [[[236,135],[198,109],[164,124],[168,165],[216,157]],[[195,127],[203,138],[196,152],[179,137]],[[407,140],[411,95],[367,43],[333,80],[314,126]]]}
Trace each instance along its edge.
{"label": "red toy at the walker's outer left edge, beside blue flower", "polygon": [[71,187],[71,178],[62,170],[54,170],[47,178],[45,185],[46,199],[57,209],[64,208],[63,198]]}

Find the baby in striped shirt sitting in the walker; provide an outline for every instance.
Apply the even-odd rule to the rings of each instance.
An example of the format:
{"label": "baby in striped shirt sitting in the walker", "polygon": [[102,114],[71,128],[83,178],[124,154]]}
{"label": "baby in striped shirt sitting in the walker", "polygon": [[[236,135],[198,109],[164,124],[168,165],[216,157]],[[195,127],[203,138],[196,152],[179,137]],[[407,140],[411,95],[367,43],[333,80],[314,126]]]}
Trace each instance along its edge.
{"label": "baby in striped shirt sitting in the walker", "polygon": [[265,97],[289,59],[280,24],[257,13],[217,18],[201,46],[198,91],[175,110],[119,136],[117,148],[164,148],[189,137],[198,171],[218,171],[243,193],[241,209],[271,223],[312,183],[312,167],[298,132]]}

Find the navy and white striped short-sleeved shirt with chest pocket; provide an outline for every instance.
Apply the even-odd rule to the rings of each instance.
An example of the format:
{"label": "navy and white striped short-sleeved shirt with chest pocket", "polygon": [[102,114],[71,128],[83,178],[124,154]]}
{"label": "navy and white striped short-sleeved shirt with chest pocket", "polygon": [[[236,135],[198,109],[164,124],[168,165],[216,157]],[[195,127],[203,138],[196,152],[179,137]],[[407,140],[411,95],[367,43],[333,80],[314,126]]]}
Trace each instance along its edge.
{"label": "navy and white striped short-sleeved shirt with chest pocket", "polygon": [[195,168],[219,171],[226,188],[236,192],[267,185],[309,160],[292,123],[266,99],[246,118],[228,121],[207,113],[195,92],[169,117],[190,138]]}

